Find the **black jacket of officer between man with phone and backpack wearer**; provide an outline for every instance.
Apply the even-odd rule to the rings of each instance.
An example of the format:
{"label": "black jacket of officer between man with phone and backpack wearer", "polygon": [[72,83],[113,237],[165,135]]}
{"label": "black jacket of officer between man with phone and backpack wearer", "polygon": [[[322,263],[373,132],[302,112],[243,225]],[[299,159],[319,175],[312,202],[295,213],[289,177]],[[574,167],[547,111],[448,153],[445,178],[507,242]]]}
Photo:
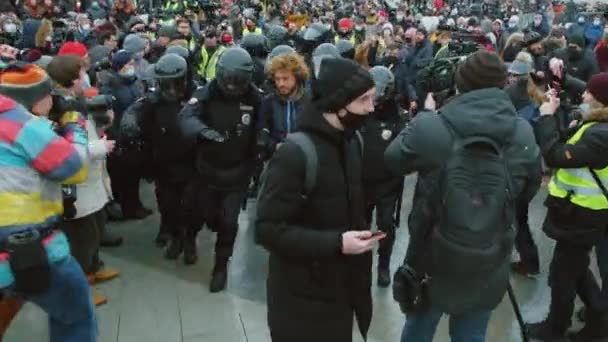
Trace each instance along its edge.
{"label": "black jacket of officer between man with phone and backpack wearer", "polygon": [[[405,127],[396,101],[376,106],[361,129],[363,136],[363,185],[366,193],[388,195],[400,187],[403,177],[395,176],[384,164],[384,151]],[[373,191],[372,191],[373,190]]]}

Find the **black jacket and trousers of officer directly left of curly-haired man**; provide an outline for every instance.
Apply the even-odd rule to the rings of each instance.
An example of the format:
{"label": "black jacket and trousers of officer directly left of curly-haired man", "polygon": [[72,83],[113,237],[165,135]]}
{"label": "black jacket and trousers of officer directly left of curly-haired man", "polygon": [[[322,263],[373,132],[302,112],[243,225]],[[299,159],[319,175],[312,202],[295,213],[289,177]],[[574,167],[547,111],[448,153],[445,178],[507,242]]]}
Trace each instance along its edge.
{"label": "black jacket and trousers of officer directly left of curly-haired man", "polygon": [[232,256],[241,203],[255,165],[260,103],[261,95],[253,85],[235,101],[224,97],[213,80],[199,89],[182,111],[186,137],[196,137],[209,128],[225,138],[223,142],[196,144],[197,179],[190,187],[195,197],[190,208],[193,215],[218,233],[216,258]]}

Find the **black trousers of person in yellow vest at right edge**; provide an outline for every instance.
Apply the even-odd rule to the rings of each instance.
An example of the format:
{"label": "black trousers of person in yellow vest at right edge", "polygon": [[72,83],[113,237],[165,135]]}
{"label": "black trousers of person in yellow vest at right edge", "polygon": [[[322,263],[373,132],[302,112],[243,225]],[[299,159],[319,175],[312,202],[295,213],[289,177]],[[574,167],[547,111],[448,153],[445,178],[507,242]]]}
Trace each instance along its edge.
{"label": "black trousers of person in yellow vest at right edge", "polygon": [[[546,219],[545,224],[556,224]],[[576,244],[558,240],[553,251],[549,271],[551,306],[547,320],[559,331],[565,332],[571,325],[576,295],[596,317],[602,311],[600,288],[589,269],[591,244]]]}

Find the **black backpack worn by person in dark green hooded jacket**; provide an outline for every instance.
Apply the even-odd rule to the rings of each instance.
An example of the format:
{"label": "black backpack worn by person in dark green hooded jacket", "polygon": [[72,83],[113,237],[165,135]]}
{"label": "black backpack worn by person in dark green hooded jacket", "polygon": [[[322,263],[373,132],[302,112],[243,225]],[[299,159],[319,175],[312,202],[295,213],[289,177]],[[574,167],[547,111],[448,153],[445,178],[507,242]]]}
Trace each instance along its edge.
{"label": "black backpack worn by person in dark green hooded jacket", "polygon": [[485,136],[460,136],[440,117],[454,143],[433,192],[438,221],[429,275],[491,274],[513,248],[515,194],[505,159],[510,141],[501,145]]}

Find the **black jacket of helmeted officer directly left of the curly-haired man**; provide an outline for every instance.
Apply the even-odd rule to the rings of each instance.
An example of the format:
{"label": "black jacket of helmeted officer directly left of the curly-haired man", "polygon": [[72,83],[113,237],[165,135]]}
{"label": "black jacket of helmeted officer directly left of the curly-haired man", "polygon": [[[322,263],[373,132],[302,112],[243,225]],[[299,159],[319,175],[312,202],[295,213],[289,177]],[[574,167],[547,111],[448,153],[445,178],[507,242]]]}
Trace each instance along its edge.
{"label": "black jacket of helmeted officer directly left of the curly-haired man", "polygon": [[[185,142],[196,149],[195,167],[203,180],[220,190],[244,190],[249,185],[258,147],[258,112],[262,97],[253,84],[237,100],[225,97],[217,80],[198,89],[180,114]],[[225,138],[201,138],[212,129]],[[261,129],[261,128],[260,128]]]}

